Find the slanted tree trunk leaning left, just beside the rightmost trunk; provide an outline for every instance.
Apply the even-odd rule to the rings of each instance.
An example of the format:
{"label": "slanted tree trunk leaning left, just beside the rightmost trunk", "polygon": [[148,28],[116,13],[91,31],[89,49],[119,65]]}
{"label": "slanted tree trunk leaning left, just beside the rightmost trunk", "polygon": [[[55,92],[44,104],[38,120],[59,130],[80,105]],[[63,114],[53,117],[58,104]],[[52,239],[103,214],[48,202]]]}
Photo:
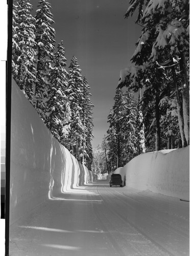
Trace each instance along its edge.
{"label": "slanted tree trunk leaning left, just beside the rightmost trunk", "polygon": [[182,147],[184,147],[187,145],[187,142],[186,142],[185,134],[184,134],[183,110],[182,110],[182,104],[181,104],[179,90],[178,90],[178,86],[177,86],[176,71],[175,71],[174,67],[172,67],[172,75],[173,75],[173,87],[175,90],[176,102],[177,102],[177,115],[178,115],[178,122],[179,122],[179,131],[180,131],[180,135],[181,135]]}

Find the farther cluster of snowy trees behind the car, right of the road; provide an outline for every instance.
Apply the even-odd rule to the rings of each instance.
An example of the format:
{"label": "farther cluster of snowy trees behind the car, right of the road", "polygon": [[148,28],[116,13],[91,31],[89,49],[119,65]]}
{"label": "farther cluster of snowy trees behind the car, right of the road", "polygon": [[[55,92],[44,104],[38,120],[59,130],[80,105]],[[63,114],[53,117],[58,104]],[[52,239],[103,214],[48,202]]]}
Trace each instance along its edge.
{"label": "farther cluster of snowy trees behind the car, right of the road", "polygon": [[99,152],[94,154],[93,172],[110,173],[146,152],[142,105],[140,90],[136,99],[130,90],[116,89],[114,105],[108,115],[109,129],[99,145]]}

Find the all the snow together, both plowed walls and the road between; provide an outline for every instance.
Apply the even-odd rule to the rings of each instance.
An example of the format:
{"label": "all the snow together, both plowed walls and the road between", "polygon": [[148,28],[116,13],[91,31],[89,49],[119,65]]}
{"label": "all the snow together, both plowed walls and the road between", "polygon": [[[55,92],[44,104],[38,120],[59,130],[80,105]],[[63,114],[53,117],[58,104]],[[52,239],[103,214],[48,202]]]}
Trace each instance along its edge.
{"label": "all the snow together, both plowed walls and the road between", "polygon": [[179,200],[189,148],[136,157],[116,171],[127,186],[110,188],[55,140],[14,81],[11,118],[11,256],[189,255],[189,203]]}

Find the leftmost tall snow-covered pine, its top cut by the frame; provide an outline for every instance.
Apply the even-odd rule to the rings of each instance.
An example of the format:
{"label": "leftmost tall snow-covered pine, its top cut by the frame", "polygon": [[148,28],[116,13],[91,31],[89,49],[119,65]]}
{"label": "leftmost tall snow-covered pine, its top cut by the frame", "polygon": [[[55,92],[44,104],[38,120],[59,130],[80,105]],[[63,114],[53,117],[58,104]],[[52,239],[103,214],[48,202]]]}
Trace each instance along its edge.
{"label": "leftmost tall snow-covered pine, its top cut by the frame", "polygon": [[[30,0],[29,0],[30,1]],[[20,90],[31,101],[36,78],[35,18],[26,0],[14,1],[12,29],[12,74]]]}

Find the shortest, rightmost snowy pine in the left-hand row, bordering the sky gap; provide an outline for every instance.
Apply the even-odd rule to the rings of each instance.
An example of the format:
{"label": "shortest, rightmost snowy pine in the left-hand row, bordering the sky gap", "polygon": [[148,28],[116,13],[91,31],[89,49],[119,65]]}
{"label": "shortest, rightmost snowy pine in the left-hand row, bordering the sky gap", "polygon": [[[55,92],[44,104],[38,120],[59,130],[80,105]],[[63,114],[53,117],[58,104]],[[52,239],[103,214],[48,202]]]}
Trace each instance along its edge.
{"label": "shortest, rightmost snowy pine in the left-hand row, bordering the sky gap", "polygon": [[[83,132],[82,132],[82,138],[81,143],[79,146],[79,156],[81,158],[81,163],[86,164],[86,160],[88,159],[88,162],[90,160],[89,154],[92,154],[91,152],[91,140],[92,140],[92,128],[93,128],[93,122],[92,122],[92,108],[93,105],[90,100],[91,93],[90,87],[88,85],[87,79],[84,76],[82,81],[82,99],[81,99],[81,121],[83,124]],[[88,140],[87,140],[88,138]],[[90,145],[88,145],[90,144]],[[88,152],[89,150],[89,152]]]}

